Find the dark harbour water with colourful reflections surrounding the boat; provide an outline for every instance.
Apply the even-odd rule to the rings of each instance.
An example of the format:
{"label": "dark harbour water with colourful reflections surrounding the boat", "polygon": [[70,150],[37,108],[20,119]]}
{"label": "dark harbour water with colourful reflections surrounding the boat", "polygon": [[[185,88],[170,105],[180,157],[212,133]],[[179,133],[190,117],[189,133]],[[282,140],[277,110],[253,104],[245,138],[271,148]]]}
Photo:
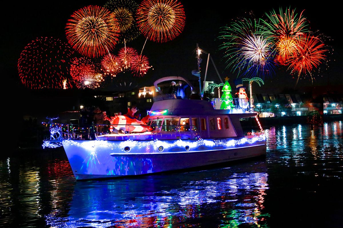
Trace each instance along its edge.
{"label": "dark harbour water with colourful reflections surrounding the boat", "polygon": [[273,127],[266,158],[141,178],[76,182],[63,150],[3,156],[0,227],[343,227],[342,125]]}

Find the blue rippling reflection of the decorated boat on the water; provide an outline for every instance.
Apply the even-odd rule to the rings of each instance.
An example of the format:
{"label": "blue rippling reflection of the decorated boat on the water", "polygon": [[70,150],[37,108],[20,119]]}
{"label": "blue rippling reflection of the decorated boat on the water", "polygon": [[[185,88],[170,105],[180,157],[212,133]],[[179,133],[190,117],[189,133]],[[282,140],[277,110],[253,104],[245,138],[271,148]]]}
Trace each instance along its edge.
{"label": "blue rippling reflection of the decorated boat on the water", "polygon": [[263,172],[263,162],[249,165],[253,168],[250,173],[222,169],[78,182],[69,216],[48,214],[46,220],[48,225],[58,227],[173,227],[196,226],[194,219],[213,216],[223,226],[259,224],[268,175]]}

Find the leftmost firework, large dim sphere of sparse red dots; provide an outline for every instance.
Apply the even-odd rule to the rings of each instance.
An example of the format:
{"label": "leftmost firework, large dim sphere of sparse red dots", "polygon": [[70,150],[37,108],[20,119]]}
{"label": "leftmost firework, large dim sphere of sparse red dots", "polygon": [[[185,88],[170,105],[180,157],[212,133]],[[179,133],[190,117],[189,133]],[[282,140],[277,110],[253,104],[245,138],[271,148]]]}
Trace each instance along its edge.
{"label": "leftmost firework, large dim sphere of sparse red dots", "polygon": [[29,89],[62,89],[63,81],[72,87],[68,62],[73,54],[67,43],[55,38],[36,38],[29,43],[18,60],[21,82]]}

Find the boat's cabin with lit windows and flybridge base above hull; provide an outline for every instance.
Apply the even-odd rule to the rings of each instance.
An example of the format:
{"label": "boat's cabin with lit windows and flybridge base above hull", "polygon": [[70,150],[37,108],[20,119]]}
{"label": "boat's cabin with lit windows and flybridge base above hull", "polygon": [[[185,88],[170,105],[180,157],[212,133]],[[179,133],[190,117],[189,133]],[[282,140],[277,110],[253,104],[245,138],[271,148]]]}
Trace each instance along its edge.
{"label": "boat's cabin with lit windows and flybridge base above hull", "polygon": [[201,138],[243,136],[239,118],[255,116],[244,110],[214,109],[206,100],[176,99],[161,95],[149,111],[154,132],[190,132]]}

